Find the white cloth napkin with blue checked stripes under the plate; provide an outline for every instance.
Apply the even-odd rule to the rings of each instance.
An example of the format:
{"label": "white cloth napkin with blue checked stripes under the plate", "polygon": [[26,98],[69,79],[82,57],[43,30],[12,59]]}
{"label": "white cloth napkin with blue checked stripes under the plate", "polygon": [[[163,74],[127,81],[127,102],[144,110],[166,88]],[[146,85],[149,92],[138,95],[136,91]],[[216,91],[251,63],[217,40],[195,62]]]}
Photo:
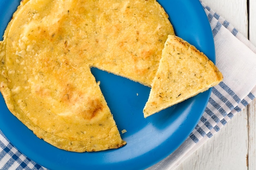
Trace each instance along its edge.
{"label": "white cloth napkin with blue checked stripes under the plate", "polygon": [[[207,108],[191,135],[163,161],[148,170],[175,168],[256,96],[256,48],[229,22],[202,4],[213,31],[216,65],[224,75],[213,87]],[[46,170],[22,155],[0,131],[0,170]]]}

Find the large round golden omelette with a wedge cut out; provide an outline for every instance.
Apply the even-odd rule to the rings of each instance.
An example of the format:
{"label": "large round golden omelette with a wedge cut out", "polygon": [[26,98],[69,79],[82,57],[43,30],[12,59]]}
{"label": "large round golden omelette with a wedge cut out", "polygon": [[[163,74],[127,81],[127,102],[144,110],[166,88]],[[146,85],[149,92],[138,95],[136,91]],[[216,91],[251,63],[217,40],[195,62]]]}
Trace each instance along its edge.
{"label": "large round golden omelette with a wedge cut out", "polygon": [[22,0],[0,42],[0,91],[53,146],[119,148],[126,142],[90,67],[150,86],[168,34],[156,0]]}

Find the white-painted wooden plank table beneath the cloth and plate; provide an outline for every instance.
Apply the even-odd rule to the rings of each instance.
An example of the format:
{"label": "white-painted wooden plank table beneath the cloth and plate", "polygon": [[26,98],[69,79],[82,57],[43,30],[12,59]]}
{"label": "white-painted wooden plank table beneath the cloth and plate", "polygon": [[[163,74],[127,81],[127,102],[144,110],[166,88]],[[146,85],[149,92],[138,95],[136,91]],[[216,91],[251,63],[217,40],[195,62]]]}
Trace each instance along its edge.
{"label": "white-painted wooden plank table beneath the cloth and plate", "polygon": [[[202,2],[229,21],[256,46],[256,0]],[[254,99],[175,170],[256,170],[255,115]]]}

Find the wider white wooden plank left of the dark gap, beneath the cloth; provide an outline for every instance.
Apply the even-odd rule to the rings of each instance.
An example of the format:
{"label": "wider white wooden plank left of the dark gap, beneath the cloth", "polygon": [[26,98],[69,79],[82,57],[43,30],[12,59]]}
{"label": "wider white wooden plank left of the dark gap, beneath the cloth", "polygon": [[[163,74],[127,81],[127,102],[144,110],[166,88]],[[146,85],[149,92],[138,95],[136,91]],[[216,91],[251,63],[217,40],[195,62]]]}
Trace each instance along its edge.
{"label": "wider white wooden plank left of the dark gap, beneath the cloth", "polygon": [[[202,2],[247,37],[246,0],[202,0]],[[203,144],[188,159],[184,160],[175,170],[248,170],[247,113],[247,108],[237,113],[220,132]]]}

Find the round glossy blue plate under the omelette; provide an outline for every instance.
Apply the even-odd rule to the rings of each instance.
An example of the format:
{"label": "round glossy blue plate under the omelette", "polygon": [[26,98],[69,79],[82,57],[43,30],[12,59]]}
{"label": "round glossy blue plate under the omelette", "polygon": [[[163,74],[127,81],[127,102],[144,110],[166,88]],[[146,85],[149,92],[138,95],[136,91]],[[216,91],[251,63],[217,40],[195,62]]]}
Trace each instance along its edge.
{"label": "round glossy blue plate under the omelette", "polygon": [[[20,0],[1,0],[0,34]],[[211,27],[199,0],[159,0],[173,24],[176,35],[196,46],[215,62]],[[96,68],[92,73],[101,81],[121,137],[127,145],[113,150],[76,153],[60,150],[37,138],[7,109],[0,95],[0,129],[23,154],[52,170],[137,170],[161,161],[177,149],[198,123],[211,90],[167,108],[147,119],[143,107],[150,88]],[[111,82],[110,82],[111,80]]]}

